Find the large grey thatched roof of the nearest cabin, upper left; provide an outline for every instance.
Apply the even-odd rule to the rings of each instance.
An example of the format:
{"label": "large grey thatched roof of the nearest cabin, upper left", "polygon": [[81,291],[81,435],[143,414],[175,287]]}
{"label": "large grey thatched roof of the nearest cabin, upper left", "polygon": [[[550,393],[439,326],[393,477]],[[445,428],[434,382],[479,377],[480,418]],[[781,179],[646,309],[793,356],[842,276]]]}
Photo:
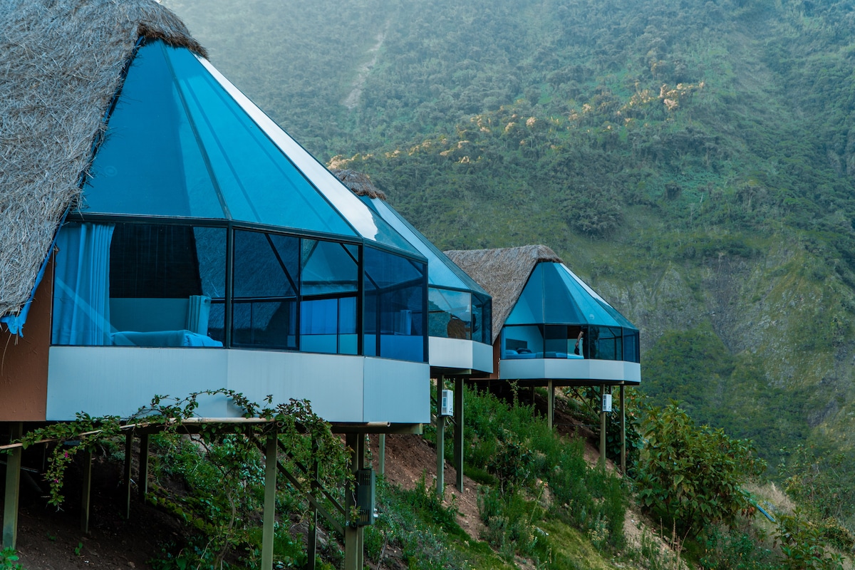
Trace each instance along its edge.
{"label": "large grey thatched roof of the nearest cabin, upper left", "polygon": [[140,37],[205,55],[154,0],[0,3],[0,316],[27,303]]}

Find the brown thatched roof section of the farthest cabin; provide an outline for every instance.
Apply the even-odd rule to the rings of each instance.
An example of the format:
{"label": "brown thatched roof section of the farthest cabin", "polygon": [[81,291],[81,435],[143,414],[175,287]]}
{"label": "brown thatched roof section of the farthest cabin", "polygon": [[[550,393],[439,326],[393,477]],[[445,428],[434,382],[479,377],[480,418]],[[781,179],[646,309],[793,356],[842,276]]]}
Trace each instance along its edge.
{"label": "brown thatched roof section of the farthest cabin", "polygon": [[445,251],[445,255],[492,296],[492,342],[496,342],[502,332],[504,321],[508,320],[534,266],[540,261],[562,262],[545,245],[498,250],[451,250]]}

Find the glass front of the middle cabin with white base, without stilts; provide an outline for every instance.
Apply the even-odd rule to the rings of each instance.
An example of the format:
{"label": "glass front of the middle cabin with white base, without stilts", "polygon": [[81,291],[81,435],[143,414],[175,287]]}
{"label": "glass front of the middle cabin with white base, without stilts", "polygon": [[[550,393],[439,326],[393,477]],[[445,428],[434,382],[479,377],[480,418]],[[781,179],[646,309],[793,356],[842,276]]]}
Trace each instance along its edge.
{"label": "glass front of the middle cabin with white base, without stilts", "polygon": [[380,197],[362,197],[428,259],[428,335],[435,372],[492,373],[492,298]]}

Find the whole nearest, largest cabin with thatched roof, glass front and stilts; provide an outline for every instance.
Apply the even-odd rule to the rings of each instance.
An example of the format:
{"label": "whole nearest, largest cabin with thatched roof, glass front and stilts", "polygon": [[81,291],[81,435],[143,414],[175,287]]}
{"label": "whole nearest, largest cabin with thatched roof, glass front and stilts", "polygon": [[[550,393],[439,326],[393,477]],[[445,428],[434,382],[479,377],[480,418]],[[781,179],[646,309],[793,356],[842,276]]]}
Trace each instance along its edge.
{"label": "whole nearest, largest cabin with thatched roof, glass front and stilts", "polygon": [[[10,0],[0,29],[7,438],[219,389],[309,400],[348,434],[354,469],[366,433],[421,431],[428,259],[219,73],[175,15],[154,0]],[[217,423],[243,409],[211,396],[197,413]],[[4,546],[20,465],[19,447]],[[344,532],[345,567],[362,567],[361,527]]]}

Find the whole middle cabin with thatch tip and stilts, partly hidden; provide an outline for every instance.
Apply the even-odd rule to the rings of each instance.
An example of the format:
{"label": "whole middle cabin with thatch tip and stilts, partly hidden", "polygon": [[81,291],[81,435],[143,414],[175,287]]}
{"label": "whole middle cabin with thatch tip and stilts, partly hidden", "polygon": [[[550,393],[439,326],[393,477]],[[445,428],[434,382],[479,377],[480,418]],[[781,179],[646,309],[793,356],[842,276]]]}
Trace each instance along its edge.
{"label": "whole middle cabin with thatch tip and stilts, partly hidden", "polygon": [[[333,169],[333,173],[428,259],[429,362],[431,377],[436,379],[438,411],[436,488],[441,496],[445,485],[445,417],[451,416],[455,484],[463,491],[463,383],[493,372],[492,298],[392,208],[386,194],[368,175],[350,169]],[[445,390],[446,382],[453,383],[451,393]],[[380,445],[381,454],[382,450]]]}

